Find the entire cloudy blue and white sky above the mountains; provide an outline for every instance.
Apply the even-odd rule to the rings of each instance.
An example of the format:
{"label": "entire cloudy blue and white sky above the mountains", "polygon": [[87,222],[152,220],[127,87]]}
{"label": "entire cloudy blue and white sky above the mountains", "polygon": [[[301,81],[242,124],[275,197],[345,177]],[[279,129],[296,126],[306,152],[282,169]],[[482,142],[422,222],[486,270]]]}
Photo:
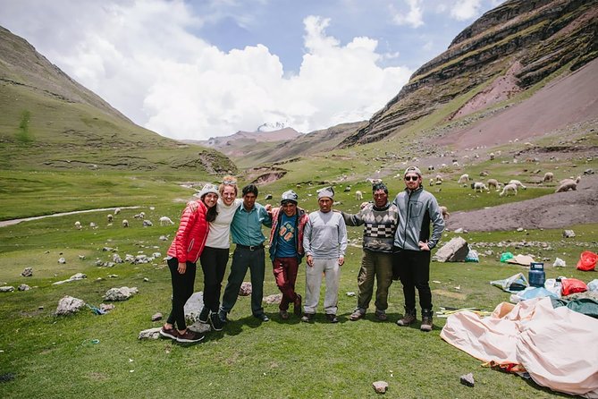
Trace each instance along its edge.
{"label": "entire cloudy blue and white sky above the mountains", "polygon": [[0,25],[135,123],[206,140],[368,119],[502,0],[0,0]]}

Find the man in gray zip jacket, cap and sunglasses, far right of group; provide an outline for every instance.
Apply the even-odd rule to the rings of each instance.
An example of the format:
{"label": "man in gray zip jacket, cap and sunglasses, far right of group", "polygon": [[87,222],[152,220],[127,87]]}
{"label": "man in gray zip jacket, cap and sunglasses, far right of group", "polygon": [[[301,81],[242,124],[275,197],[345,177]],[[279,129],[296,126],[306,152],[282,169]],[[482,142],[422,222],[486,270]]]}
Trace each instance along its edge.
{"label": "man in gray zip jacket, cap and sunglasses, far right of group", "polygon": [[[430,250],[440,241],[444,219],[438,202],[424,190],[422,173],[409,166],[403,175],[405,190],[392,202],[399,209],[399,225],[394,234],[394,263],[403,285],[405,315],[397,324],[416,321],[416,288],[422,310],[422,331],[432,331],[432,292],[430,291]],[[432,235],[430,224],[432,223]]]}

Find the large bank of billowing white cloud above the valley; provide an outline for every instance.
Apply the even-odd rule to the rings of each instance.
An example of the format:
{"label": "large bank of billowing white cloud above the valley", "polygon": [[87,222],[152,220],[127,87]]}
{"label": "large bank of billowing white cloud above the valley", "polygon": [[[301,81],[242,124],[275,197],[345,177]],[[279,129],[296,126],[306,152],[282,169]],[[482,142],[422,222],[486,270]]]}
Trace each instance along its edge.
{"label": "large bank of billowing white cloud above the valley", "polygon": [[176,139],[206,140],[265,122],[311,132],[367,119],[412,72],[378,66],[375,39],[343,45],[326,34],[331,20],[317,16],[303,21],[299,72],[285,76],[264,45],[223,52],[191,34],[208,16],[199,18],[183,1],[19,4],[14,26],[38,38],[38,51],[135,123]]}

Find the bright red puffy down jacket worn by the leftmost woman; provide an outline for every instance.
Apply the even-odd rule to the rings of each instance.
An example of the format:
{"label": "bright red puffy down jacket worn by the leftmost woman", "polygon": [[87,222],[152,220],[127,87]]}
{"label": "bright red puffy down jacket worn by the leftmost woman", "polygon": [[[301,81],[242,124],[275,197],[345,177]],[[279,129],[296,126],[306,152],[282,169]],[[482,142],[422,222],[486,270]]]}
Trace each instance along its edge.
{"label": "bright red puffy down jacket worn by the leftmost woman", "polygon": [[168,255],[179,259],[179,263],[190,261],[197,263],[199,255],[206,246],[209,223],[206,221],[207,207],[202,201],[196,201],[198,208],[191,212],[187,207],[182,211],[181,224],[176,232]]}

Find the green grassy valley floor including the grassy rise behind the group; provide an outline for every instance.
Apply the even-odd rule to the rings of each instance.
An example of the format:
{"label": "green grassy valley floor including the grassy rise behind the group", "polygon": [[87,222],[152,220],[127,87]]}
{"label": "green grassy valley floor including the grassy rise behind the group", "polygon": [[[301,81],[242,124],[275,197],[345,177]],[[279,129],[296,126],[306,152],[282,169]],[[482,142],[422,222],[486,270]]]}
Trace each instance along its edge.
{"label": "green grassy valley floor including the grassy rise behind the group", "polygon": [[[379,149],[366,147],[375,153]],[[299,205],[316,209],[317,188],[336,182],[340,208],[356,212],[354,191],[369,197],[368,170],[374,165],[368,157],[352,157],[350,150],[334,156],[309,157],[285,165],[289,171],[275,183],[261,187],[260,198],[268,193],[275,204],[280,193],[289,188],[299,192]],[[493,166],[494,165],[494,166]],[[500,163],[479,165],[495,168],[493,176],[508,178],[518,173],[529,183],[535,176]],[[565,169],[567,163],[563,164]],[[399,164],[393,167],[399,171]],[[595,167],[595,165],[593,165]],[[552,192],[553,187],[535,184],[521,191],[517,199],[501,199],[491,192],[473,193],[456,183],[460,170],[444,172],[442,191],[434,191],[439,201],[451,211],[493,206],[511,200],[534,198]],[[396,172],[394,172],[396,174]],[[569,171],[567,172],[569,173]],[[350,228],[352,242],[347,262],[342,267],[339,314],[341,322],[326,323],[318,314],[315,324],[300,323],[291,317],[277,317],[277,305],[265,305],[271,321],[260,324],[250,316],[249,299],[240,297],[232,310],[232,322],[222,332],[209,333],[203,343],[181,345],[169,340],[139,341],[139,331],[159,327],[151,316],[170,310],[171,282],[164,260],[150,264],[97,267],[96,261],[112,260],[115,249],[125,254],[165,256],[176,225],[160,226],[158,218],[169,216],[178,221],[181,208],[194,192],[181,183],[217,180],[206,174],[151,174],[119,171],[7,171],[1,172],[0,219],[45,215],[55,212],[92,208],[123,208],[108,225],[109,210],[77,215],[47,217],[17,225],[0,227],[0,282],[2,285],[29,284],[25,292],[0,293],[0,396],[2,397],[164,397],[201,395],[208,397],[375,397],[372,383],[389,383],[389,397],[555,397],[535,383],[515,375],[481,367],[481,361],[453,348],[439,338],[444,319],[434,318],[434,331],[425,334],[415,327],[397,327],[402,314],[400,283],[392,285],[389,321],[373,318],[373,303],[366,319],[349,321],[356,304],[347,293],[357,291],[361,256],[361,228]],[[400,178],[389,174],[384,180],[392,195],[402,188]],[[456,177],[455,177],[456,176]],[[524,182],[524,183],[526,183]],[[299,183],[299,185],[298,185]],[[346,185],[350,192],[344,192]],[[262,200],[264,202],[264,200]],[[152,227],[142,227],[133,215],[145,211]],[[122,219],[131,227],[122,228]],[[79,231],[73,225],[80,221]],[[97,229],[89,223],[98,225]],[[484,242],[492,255],[480,263],[432,264],[434,308],[479,307],[493,310],[509,293],[489,284],[523,271],[525,267],[499,262],[501,251],[532,253],[536,257],[565,259],[568,267],[555,269],[545,262],[547,277],[575,276],[584,281],[593,273],[578,272],[575,264],[585,249],[596,251],[598,225],[570,226],[575,239],[564,241],[562,229],[469,233],[464,237],[474,248]],[[167,240],[160,240],[160,236]],[[453,233],[445,233],[449,240]],[[550,248],[518,248],[518,241],[548,242]],[[512,246],[496,247],[510,241]],[[84,256],[85,259],[80,259]],[[57,259],[64,257],[66,264]],[[230,264],[229,264],[230,266]],[[25,267],[33,267],[34,276],[22,277]],[[266,260],[265,295],[278,293],[270,263]],[[82,281],[53,285],[73,274],[85,273]],[[116,275],[109,277],[110,275]],[[147,281],[146,281],[147,279]],[[196,291],[202,287],[198,273]],[[81,310],[72,317],[56,317],[54,311],[64,295],[71,295],[92,306],[102,302],[112,287],[137,286],[139,294],[129,301],[115,302],[116,308],[103,316]],[[298,292],[305,291],[305,272],[301,268]],[[323,295],[324,293],[322,293]],[[323,299],[321,299],[320,306]],[[321,308],[320,308],[321,310]],[[475,387],[463,386],[459,376],[472,372]]]}

